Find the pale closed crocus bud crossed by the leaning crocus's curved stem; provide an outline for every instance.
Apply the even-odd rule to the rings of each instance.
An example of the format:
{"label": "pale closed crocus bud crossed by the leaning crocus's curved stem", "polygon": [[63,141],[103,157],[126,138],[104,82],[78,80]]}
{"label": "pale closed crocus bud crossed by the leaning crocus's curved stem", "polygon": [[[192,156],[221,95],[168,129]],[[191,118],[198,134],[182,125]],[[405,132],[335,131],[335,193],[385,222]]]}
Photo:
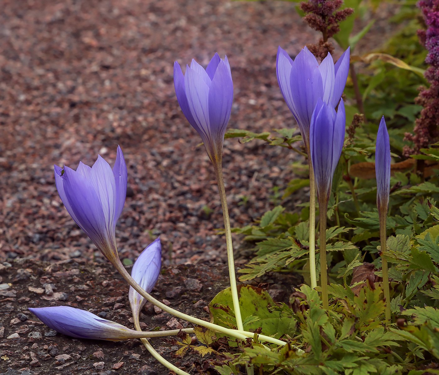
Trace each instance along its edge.
{"label": "pale closed crocus bud crossed by the leaning crocus's curved stem", "polygon": [[[162,245],[160,237],[149,244],[144,251],[139,255],[136,262],[134,262],[131,276],[134,281],[139,284],[142,289],[150,293],[157,282],[160,274],[160,267],[162,265]],[[146,303],[146,300],[137,293],[132,286],[128,294],[130,299],[131,310],[133,316],[138,316],[141,308]]]}

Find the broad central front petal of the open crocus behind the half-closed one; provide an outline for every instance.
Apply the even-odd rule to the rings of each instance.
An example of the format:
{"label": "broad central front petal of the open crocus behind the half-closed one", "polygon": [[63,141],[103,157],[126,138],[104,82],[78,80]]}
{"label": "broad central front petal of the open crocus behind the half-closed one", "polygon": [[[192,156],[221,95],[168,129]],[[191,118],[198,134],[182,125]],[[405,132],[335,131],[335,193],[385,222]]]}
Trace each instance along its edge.
{"label": "broad central front petal of the open crocus behind the half-closed one", "polygon": [[317,100],[323,97],[323,80],[314,55],[304,47],[296,56],[290,74],[290,85],[296,118],[305,134],[309,137],[309,124]]}

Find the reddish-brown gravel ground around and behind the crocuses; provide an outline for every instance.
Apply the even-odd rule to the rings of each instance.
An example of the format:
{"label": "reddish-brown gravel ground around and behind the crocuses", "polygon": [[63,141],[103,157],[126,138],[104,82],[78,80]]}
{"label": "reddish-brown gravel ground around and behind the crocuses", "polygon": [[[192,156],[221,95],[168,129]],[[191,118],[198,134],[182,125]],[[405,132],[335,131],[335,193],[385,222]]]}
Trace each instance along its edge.
{"label": "reddish-brown gravel ground around and behind the crocuses", "polygon": [[[132,327],[128,288],[62,206],[53,164],[91,165],[97,154],[112,164],[120,144],[128,191],[119,255],[132,263],[160,235],[164,267],[153,295],[207,319],[205,306],[228,286],[216,232],[222,213],[201,139],[176,101],[173,62],[205,66],[215,52],[227,54],[229,128],[272,131],[295,124],[277,85],[277,46],[294,56],[318,35],[283,1],[0,0],[0,8],[0,374],[168,374],[138,340],[71,339],[27,310],[65,304]],[[361,48],[383,38],[387,14],[377,14],[375,38],[372,30]],[[280,202],[277,190],[295,177],[292,162],[304,161],[262,141],[225,141],[232,227]],[[303,189],[282,204],[292,211],[307,200]],[[237,251],[238,268],[248,255]],[[287,301],[300,280],[259,282]],[[149,329],[185,324],[151,306],[141,321]],[[177,366],[203,373],[195,364],[208,357],[171,358],[175,345],[152,343]]]}

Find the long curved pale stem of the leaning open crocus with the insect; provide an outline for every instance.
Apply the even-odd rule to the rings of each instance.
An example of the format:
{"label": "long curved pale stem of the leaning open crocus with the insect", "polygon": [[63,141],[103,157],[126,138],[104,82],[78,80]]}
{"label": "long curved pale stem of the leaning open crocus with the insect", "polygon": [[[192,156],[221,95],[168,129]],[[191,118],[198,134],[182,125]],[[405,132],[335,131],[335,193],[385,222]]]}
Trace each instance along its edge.
{"label": "long curved pale stem of the leaning open crocus with the insect", "polygon": [[[116,252],[116,254],[117,254],[117,252]],[[107,258],[107,259],[110,260],[109,258]],[[112,256],[111,262],[116,267],[116,269],[119,271],[119,273],[122,275],[122,277],[126,280],[126,282],[128,282],[128,284],[130,284],[134,288],[134,290],[140,294],[140,296],[142,296],[148,302],[151,302],[155,306],[161,308],[163,311],[166,311],[167,313],[172,314],[180,319],[184,319],[185,321],[188,321],[192,324],[201,325],[202,327],[212,329],[213,331],[223,333],[224,335],[235,337],[236,339],[239,339],[239,340],[245,340],[248,337],[250,337],[250,338],[254,337],[255,334],[253,332],[242,331],[242,333],[241,333],[241,332],[237,331],[236,329],[221,327],[220,325],[216,325],[216,324],[210,323],[208,321],[204,321],[202,319],[192,317],[192,316],[184,314],[180,311],[174,310],[173,308],[171,308],[169,306],[166,306],[164,303],[158,301],[153,296],[151,296],[150,294],[145,292],[140,287],[140,285],[137,284],[136,281],[134,281],[134,279],[131,277],[131,275],[128,273],[128,271],[123,266],[123,264],[120,261],[118,256]],[[273,343],[273,344],[281,345],[281,346],[284,346],[286,344],[284,341],[281,341],[281,340],[278,340],[278,339],[275,339],[273,337],[266,336],[266,335],[258,335],[258,339],[260,341],[266,341],[268,343]]]}

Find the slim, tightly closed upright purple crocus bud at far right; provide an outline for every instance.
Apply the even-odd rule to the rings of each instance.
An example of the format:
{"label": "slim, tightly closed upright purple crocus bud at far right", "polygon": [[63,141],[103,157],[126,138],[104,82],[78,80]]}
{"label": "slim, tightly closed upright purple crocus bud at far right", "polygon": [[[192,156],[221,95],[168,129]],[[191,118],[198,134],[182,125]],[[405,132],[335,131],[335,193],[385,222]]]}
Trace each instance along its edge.
{"label": "slim, tightly closed upright purple crocus bud at far right", "polygon": [[390,140],[384,116],[378,128],[377,146],[375,151],[375,174],[377,176],[378,212],[387,213],[390,193]]}

